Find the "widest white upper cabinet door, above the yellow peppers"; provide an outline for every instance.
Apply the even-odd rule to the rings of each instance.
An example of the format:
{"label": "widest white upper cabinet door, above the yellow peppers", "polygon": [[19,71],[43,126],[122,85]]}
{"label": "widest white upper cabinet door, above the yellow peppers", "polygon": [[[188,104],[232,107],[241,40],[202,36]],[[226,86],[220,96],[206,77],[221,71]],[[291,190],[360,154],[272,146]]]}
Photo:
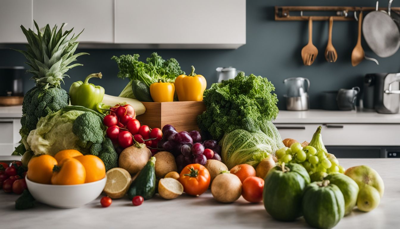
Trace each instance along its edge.
{"label": "widest white upper cabinet door, above the yellow peppers", "polygon": [[246,0],[116,1],[116,43],[246,43]]}

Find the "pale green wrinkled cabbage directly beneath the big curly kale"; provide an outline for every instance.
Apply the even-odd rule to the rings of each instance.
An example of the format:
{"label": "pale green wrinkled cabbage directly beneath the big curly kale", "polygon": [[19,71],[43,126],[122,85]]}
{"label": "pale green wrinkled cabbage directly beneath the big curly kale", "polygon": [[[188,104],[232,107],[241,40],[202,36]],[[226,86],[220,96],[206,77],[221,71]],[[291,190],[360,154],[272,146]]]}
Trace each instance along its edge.
{"label": "pale green wrinkled cabbage directly beneath the big curly kale", "polygon": [[269,154],[273,154],[271,145],[275,143],[261,130],[248,132],[236,129],[225,134],[219,144],[222,148],[222,162],[231,169],[238,164],[256,166]]}

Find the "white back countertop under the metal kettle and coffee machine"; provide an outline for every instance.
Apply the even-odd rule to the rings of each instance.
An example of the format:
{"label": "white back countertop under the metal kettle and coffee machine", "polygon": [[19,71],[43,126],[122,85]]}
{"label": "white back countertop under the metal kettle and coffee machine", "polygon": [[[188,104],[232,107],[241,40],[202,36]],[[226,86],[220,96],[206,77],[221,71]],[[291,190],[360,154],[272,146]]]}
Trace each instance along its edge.
{"label": "white back countertop under the metal kettle and coffee machine", "polygon": [[273,123],[291,124],[345,124],[345,123],[369,123],[391,124],[400,123],[400,113],[380,114],[375,111],[279,111],[278,117]]}

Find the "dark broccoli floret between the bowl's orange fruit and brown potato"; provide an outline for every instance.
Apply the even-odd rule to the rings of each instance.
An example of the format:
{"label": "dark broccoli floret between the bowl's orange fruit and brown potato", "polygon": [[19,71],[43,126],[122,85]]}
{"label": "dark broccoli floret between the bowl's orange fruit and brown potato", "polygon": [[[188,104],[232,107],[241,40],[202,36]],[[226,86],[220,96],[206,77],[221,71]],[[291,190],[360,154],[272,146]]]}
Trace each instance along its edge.
{"label": "dark broccoli floret between the bowl's orange fruit and brown potato", "polygon": [[106,171],[118,167],[118,154],[110,138],[105,138],[102,144],[93,144],[90,154],[98,156],[103,161]]}

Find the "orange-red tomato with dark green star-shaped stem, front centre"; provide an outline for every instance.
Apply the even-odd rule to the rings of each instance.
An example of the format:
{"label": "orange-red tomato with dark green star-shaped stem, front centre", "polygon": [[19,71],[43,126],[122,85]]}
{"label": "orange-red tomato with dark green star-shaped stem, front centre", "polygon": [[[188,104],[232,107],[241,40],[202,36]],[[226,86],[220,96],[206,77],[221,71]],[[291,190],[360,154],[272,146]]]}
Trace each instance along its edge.
{"label": "orange-red tomato with dark green star-shaped stem, front centre", "polygon": [[210,172],[201,164],[189,164],[180,172],[179,182],[185,193],[199,196],[210,186]]}

